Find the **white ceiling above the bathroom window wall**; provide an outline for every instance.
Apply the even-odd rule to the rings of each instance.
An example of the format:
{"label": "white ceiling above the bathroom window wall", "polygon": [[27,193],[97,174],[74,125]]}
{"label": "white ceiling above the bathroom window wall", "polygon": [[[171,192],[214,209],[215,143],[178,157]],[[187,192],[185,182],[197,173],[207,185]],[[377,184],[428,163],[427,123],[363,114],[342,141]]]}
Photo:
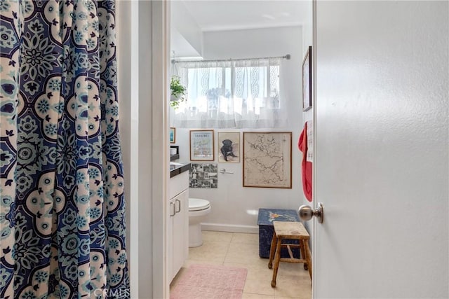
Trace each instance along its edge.
{"label": "white ceiling above the bathroom window wall", "polygon": [[305,0],[184,0],[201,31],[298,26],[302,24]]}

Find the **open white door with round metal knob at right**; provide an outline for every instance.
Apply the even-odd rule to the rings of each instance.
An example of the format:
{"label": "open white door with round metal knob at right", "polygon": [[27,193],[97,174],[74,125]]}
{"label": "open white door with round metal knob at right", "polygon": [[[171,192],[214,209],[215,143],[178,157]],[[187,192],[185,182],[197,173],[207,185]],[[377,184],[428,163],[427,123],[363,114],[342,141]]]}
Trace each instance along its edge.
{"label": "open white door with round metal knob at right", "polygon": [[314,298],[449,298],[448,1],[315,8]]}

